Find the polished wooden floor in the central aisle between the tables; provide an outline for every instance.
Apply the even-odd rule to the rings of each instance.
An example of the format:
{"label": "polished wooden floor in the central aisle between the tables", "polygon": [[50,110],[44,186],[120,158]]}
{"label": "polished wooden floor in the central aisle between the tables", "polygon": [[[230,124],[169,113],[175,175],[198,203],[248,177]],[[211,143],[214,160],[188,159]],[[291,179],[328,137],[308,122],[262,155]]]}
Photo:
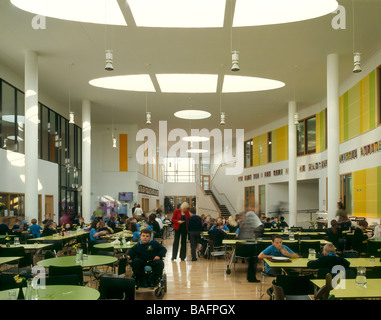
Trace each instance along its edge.
{"label": "polished wooden floor in the central aisle between the tables", "polygon": [[[167,292],[163,300],[259,300],[260,283],[247,281],[247,262],[239,260],[232,268],[231,274],[226,274],[226,262],[223,258],[207,260],[199,258],[191,261],[190,246],[187,246],[187,259],[179,258],[171,261],[173,238],[164,240],[167,248],[165,258],[165,273],[167,275]],[[263,262],[258,264],[257,279],[261,279]],[[266,290],[273,278],[264,281]],[[265,294],[262,299],[267,300]],[[152,290],[139,289],[136,299],[156,299]]]}

